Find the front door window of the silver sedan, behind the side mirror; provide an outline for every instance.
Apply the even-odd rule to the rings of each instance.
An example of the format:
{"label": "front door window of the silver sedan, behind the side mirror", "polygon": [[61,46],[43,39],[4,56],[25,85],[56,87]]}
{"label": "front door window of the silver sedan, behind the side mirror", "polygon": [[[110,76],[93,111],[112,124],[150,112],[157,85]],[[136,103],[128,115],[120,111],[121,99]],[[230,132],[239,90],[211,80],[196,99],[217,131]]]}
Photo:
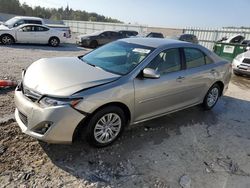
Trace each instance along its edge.
{"label": "front door window of the silver sedan, behind the side mirror", "polygon": [[147,68],[158,71],[161,75],[181,70],[179,49],[169,49],[158,54]]}

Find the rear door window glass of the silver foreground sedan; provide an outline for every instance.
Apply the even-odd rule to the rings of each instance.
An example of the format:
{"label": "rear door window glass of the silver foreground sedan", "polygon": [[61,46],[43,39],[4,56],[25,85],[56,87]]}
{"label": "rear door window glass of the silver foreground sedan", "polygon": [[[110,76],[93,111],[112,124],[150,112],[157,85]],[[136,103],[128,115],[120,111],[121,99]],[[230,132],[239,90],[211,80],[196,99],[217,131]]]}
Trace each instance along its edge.
{"label": "rear door window glass of the silver foreground sedan", "polygon": [[187,69],[200,67],[206,64],[204,54],[197,49],[184,48]]}

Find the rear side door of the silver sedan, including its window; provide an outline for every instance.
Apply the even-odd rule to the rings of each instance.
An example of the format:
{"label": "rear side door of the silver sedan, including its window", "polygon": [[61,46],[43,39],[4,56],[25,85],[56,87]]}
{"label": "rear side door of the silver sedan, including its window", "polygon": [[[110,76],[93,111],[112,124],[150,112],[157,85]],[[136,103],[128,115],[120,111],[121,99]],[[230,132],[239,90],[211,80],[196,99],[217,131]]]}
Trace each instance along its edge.
{"label": "rear side door of the silver sedan, including its window", "polygon": [[186,104],[192,105],[203,101],[209,87],[215,82],[216,70],[213,61],[201,50],[183,48],[185,74],[182,83],[186,90]]}

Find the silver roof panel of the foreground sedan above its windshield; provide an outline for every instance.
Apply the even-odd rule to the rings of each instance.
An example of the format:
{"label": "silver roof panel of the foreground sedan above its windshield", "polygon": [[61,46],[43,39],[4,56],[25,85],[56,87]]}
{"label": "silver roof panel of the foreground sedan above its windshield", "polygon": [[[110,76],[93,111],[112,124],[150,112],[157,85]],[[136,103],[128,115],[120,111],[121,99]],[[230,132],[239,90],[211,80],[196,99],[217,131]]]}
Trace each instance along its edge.
{"label": "silver roof panel of the foreground sedan above its windshield", "polygon": [[121,39],[120,41],[133,43],[133,44],[139,44],[142,46],[148,46],[151,48],[159,48],[159,47],[174,45],[174,44],[188,44],[187,42],[184,42],[184,41],[162,39],[162,38],[126,38],[126,39]]}

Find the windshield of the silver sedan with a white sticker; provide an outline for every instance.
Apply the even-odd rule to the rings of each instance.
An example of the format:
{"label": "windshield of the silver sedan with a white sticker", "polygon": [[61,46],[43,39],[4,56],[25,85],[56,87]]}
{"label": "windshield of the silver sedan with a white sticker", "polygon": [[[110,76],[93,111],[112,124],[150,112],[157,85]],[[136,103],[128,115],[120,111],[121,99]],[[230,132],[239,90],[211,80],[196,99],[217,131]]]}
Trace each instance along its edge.
{"label": "windshield of the silver sedan with a white sticker", "polygon": [[98,48],[81,60],[107,72],[125,75],[139,65],[153,48],[117,41]]}

